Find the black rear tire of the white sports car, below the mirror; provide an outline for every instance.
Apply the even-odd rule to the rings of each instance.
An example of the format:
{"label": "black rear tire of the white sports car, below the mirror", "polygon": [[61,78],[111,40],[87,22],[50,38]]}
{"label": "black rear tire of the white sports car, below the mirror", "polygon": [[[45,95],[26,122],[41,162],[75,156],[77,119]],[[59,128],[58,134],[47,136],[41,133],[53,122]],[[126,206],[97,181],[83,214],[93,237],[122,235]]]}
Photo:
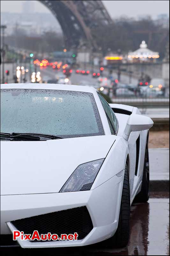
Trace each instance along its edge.
{"label": "black rear tire of the white sports car, below the mirror", "polygon": [[148,141],[146,143],[145,157],[144,157],[144,171],[142,178],[142,188],[139,194],[135,197],[135,203],[146,203],[150,194],[150,180],[149,180],[149,152]]}

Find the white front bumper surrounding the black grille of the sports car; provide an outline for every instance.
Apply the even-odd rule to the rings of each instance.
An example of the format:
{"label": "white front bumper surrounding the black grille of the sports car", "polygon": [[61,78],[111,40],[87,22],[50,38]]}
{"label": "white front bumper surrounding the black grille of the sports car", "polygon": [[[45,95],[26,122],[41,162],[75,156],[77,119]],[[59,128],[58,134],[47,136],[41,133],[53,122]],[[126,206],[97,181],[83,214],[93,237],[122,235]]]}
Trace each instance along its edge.
{"label": "white front bumper surrounding the black grille of the sports car", "polygon": [[[1,196],[1,234],[16,228],[11,221],[86,206],[93,229],[82,240],[30,242],[17,238],[23,248],[84,246],[114,235],[119,218],[124,172],[90,191]],[[71,219],[70,219],[71,221]],[[63,231],[64,233],[64,231]]]}

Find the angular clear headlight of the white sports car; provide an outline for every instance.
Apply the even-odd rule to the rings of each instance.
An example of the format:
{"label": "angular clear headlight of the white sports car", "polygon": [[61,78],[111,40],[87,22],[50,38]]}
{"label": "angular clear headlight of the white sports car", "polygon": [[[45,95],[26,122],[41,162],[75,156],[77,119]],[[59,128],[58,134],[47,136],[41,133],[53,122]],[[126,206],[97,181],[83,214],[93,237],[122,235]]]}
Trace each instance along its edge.
{"label": "angular clear headlight of the white sports car", "polygon": [[79,165],[59,192],[90,190],[104,158]]}

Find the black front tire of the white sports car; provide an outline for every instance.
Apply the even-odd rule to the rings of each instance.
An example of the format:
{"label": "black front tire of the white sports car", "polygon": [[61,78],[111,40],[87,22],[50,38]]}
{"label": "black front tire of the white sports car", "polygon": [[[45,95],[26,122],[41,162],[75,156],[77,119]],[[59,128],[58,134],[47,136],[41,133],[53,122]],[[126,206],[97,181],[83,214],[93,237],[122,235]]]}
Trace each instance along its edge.
{"label": "black front tire of the white sports car", "polygon": [[130,232],[130,188],[128,165],[125,167],[125,174],[122,188],[122,198],[119,213],[119,221],[116,233],[105,242],[109,247],[122,248],[128,244]]}

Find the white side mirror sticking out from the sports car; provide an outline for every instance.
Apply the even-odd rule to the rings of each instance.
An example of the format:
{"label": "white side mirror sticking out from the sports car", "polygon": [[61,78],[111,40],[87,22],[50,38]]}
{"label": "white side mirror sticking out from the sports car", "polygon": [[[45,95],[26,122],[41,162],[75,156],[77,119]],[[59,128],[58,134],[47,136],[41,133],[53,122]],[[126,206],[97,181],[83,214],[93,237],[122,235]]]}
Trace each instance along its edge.
{"label": "white side mirror sticking out from the sports car", "polygon": [[123,133],[123,138],[125,140],[129,140],[129,136],[131,132],[148,130],[152,126],[153,126],[153,121],[150,117],[132,114],[128,118],[125,130]]}

